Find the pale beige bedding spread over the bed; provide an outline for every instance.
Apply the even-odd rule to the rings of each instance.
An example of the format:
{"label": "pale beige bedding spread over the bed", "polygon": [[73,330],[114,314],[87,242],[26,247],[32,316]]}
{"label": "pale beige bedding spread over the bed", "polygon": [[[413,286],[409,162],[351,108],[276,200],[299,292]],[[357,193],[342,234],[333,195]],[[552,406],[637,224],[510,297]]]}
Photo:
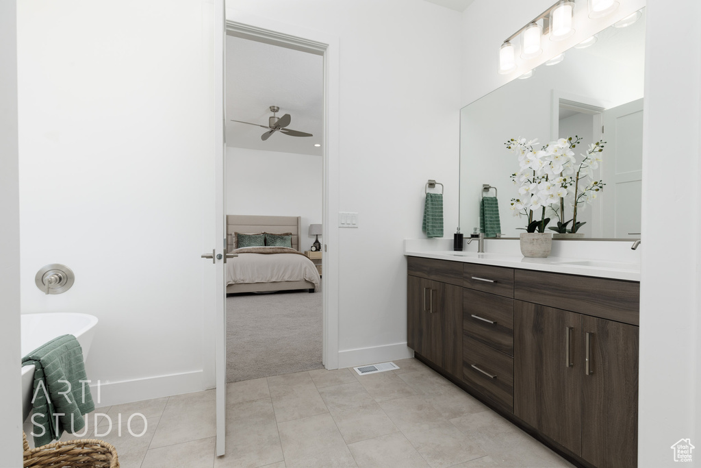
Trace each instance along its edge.
{"label": "pale beige bedding spread over the bed", "polygon": [[318,289],[321,279],[316,265],[297,250],[282,249],[290,253],[247,253],[250,248],[233,250],[238,257],[226,262],[226,284],[306,280]]}

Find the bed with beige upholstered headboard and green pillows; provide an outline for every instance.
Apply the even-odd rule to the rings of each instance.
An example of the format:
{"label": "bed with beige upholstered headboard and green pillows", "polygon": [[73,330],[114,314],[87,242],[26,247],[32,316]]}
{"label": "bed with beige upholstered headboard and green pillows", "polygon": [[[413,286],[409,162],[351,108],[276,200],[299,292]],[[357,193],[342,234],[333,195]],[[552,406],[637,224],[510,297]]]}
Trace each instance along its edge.
{"label": "bed with beige upholstered headboard and green pillows", "polygon": [[[235,233],[291,233],[292,248],[236,248]],[[226,293],[264,293],[278,290],[319,290],[318,269],[301,254],[299,216],[226,215],[226,251],[238,257],[226,263]],[[259,253],[268,249],[280,253]],[[284,253],[283,253],[284,252]]]}

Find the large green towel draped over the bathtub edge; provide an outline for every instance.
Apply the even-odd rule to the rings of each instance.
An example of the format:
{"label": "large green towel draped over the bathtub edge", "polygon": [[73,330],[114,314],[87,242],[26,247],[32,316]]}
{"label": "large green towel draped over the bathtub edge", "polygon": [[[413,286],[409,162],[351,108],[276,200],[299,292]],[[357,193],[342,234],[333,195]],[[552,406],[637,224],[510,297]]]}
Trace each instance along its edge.
{"label": "large green towel draped over the bathtub edge", "polygon": [[[85,427],[83,415],[95,410],[87,380],[83,350],[76,337],[62,335],[22,358],[33,364],[32,432],[39,447],[60,439],[64,431]],[[43,431],[42,431],[43,428]],[[43,433],[43,434],[42,434]],[[39,435],[41,434],[41,435]]]}

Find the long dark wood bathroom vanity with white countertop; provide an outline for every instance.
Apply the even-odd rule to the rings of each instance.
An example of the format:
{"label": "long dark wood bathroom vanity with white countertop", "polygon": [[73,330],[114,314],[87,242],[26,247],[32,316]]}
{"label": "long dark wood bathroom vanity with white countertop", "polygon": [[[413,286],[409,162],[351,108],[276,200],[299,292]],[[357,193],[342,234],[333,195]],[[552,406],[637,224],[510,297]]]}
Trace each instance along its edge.
{"label": "long dark wood bathroom vanity with white countertop", "polygon": [[636,467],[636,275],[522,260],[407,252],[407,345],[569,460]]}

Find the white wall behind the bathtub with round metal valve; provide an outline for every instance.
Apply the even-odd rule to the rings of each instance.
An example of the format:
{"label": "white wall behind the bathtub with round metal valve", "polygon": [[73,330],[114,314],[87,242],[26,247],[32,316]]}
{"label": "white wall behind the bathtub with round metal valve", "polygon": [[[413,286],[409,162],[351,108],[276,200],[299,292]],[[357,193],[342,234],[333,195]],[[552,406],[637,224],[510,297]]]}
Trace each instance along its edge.
{"label": "white wall behind the bathtub with round metal valve", "polygon": [[[100,319],[86,370],[102,405],[214,386],[213,8],[18,8],[22,312]],[[34,274],[54,262],[76,281],[43,295]]]}

